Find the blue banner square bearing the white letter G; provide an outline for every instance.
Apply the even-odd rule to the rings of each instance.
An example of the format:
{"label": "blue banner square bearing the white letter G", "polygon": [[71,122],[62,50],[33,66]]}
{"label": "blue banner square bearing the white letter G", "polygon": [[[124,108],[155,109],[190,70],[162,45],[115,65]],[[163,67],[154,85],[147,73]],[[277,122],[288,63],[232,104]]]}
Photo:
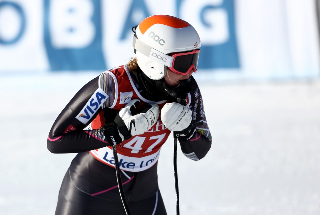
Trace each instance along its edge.
{"label": "blue banner square bearing the white letter G", "polygon": [[[188,4],[185,2],[187,1],[177,0],[177,16],[181,19],[188,20],[187,17],[185,18],[185,16],[182,15],[183,12],[181,11],[181,8],[183,8],[182,5]],[[198,68],[239,68],[234,0],[204,1],[204,4],[196,10],[196,14],[194,14],[191,8],[194,2],[189,2],[191,4],[187,5],[188,11],[184,11],[187,11],[187,14],[191,14],[192,16],[197,16],[196,18],[189,17],[191,20],[198,19],[199,25],[194,27],[198,30],[199,26],[203,26],[202,29],[207,31],[205,36],[209,37],[204,40],[200,35],[202,42]],[[214,2],[216,3],[214,4]],[[197,4],[201,4],[201,2],[197,2]],[[201,30],[199,33],[201,33]],[[212,40],[210,40],[210,37],[212,37]]]}

